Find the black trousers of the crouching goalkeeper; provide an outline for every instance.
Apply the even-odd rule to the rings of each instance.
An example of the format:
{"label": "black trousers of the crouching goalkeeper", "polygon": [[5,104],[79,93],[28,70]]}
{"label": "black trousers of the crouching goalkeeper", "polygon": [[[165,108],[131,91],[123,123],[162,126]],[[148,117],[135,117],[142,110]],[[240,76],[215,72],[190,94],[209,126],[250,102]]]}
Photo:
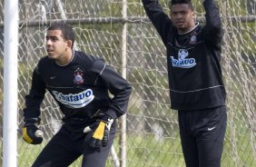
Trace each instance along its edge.
{"label": "black trousers of the crouching goalkeeper", "polygon": [[111,150],[114,134],[115,123],[112,124],[108,145],[95,150],[89,146],[92,136],[90,133],[71,132],[62,127],[46,144],[33,167],[67,167],[81,155],[82,167],[103,167]]}

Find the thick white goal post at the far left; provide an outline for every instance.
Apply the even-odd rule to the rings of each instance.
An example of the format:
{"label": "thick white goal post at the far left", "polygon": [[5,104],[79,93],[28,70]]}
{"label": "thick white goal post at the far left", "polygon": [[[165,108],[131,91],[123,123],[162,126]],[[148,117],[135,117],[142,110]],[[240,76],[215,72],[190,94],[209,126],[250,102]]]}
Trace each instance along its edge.
{"label": "thick white goal post at the far left", "polygon": [[5,0],[3,166],[17,165],[18,0]]}

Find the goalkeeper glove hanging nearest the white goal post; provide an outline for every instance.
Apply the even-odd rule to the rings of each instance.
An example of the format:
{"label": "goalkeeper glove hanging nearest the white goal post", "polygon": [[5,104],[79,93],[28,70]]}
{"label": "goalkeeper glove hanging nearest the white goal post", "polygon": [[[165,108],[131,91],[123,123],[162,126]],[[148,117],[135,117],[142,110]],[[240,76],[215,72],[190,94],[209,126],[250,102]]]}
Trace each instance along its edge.
{"label": "goalkeeper glove hanging nearest the white goal post", "polygon": [[43,142],[43,132],[38,128],[40,119],[26,119],[22,129],[23,139],[25,142],[39,144]]}

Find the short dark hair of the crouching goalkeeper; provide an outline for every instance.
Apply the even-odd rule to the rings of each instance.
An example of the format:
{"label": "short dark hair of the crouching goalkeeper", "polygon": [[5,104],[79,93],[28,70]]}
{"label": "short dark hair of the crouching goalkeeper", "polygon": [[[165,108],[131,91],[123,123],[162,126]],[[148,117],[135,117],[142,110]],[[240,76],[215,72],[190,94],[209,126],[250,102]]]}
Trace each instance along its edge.
{"label": "short dark hair of the crouching goalkeeper", "polygon": [[74,46],[74,30],[71,25],[67,25],[64,22],[54,22],[47,30],[61,30],[64,40],[72,41],[72,48]]}

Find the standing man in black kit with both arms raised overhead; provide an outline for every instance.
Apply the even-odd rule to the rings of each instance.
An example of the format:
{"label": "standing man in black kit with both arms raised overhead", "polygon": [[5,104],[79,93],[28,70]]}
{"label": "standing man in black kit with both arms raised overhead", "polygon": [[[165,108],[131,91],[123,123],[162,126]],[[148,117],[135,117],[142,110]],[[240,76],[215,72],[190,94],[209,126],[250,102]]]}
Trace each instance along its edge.
{"label": "standing man in black kit with both arms raised overhead", "polygon": [[178,110],[186,166],[218,167],[227,122],[220,64],[222,23],[214,0],[202,3],[203,26],[195,22],[190,0],[172,0],[171,18],[158,0],[143,0],[167,50],[171,105]]}

